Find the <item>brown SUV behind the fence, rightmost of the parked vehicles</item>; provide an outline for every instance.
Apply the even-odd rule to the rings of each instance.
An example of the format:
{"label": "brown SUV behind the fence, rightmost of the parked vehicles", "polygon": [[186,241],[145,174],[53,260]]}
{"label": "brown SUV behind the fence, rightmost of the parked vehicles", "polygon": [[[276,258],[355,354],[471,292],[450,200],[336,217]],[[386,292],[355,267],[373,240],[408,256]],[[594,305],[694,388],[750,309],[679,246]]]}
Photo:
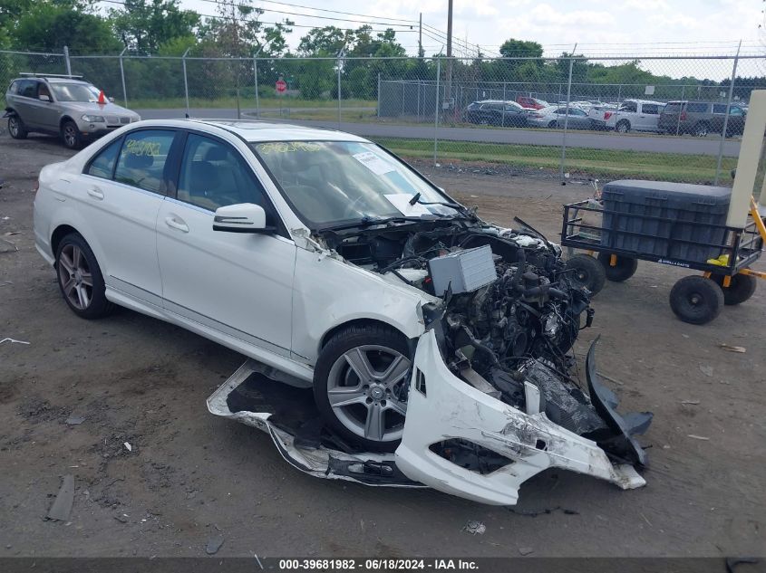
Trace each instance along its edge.
{"label": "brown SUV behind the fence, rightmost of the parked vehicles", "polygon": [[[691,133],[699,138],[709,133],[721,133],[726,118],[726,104],[714,101],[669,101],[660,115],[659,129],[673,134]],[[747,119],[747,108],[732,103],[726,137],[742,135]]]}

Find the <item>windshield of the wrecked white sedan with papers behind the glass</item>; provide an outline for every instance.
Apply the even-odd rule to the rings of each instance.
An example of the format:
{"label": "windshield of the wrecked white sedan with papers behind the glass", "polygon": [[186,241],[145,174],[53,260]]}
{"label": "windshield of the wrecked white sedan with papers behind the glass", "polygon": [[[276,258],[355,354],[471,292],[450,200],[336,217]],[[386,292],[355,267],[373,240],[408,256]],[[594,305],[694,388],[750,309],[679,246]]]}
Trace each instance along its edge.
{"label": "windshield of the wrecked white sedan with papers behind the glass", "polygon": [[[372,143],[252,143],[286,198],[315,226],[397,216],[456,215],[450,203],[410,167]],[[412,197],[420,194],[415,205]]]}

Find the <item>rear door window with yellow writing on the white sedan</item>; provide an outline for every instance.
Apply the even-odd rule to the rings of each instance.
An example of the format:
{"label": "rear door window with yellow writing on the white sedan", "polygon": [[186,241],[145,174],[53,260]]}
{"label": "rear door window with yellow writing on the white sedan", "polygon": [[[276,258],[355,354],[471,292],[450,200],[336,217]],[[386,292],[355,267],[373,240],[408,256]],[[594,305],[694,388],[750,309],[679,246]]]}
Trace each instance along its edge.
{"label": "rear door window with yellow writing on the white sedan", "polygon": [[154,193],[165,192],[165,162],[175,131],[146,129],[125,136],[114,180]]}

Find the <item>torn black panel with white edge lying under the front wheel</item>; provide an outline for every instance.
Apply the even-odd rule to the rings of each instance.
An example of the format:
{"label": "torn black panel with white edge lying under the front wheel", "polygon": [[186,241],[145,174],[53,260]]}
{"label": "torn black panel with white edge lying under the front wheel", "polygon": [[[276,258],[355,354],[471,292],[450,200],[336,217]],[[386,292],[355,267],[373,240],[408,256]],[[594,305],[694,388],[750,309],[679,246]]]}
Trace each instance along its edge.
{"label": "torn black panel with white edge lying under the front wheel", "polygon": [[267,376],[269,368],[247,360],[211,396],[211,414],[266,432],[285,461],[328,480],[390,487],[424,487],[397,467],[394,454],[354,452],[326,433],[311,389],[287,386]]}

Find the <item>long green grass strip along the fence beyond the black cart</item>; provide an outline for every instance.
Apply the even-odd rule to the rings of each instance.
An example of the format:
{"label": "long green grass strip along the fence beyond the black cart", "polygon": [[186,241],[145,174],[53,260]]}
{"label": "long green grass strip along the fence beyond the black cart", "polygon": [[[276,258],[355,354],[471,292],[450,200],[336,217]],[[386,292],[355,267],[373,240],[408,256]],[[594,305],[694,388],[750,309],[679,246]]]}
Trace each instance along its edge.
{"label": "long green grass strip along the fence beyond the black cart", "polygon": [[[432,158],[433,141],[373,138],[404,158]],[[472,141],[440,141],[438,160],[494,163],[509,167],[558,170],[561,148]],[[566,171],[589,177],[636,177],[685,183],[713,183],[715,156],[648,153],[593,148],[567,148]],[[736,158],[723,158],[722,181],[736,167]]]}

